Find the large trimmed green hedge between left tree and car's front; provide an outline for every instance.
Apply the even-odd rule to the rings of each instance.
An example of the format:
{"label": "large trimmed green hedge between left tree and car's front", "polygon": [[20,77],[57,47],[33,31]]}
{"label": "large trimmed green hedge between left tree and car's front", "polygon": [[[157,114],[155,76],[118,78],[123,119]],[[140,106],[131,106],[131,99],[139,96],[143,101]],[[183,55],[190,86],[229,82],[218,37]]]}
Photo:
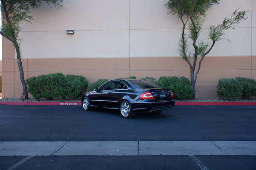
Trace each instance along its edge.
{"label": "large trimmed green hedge between left tree and car's front", "polygon": [[29,93],[37,100],[58,98],[64,101],[66,97],[79,99],[87,89],[85,77],[64,75],[63,73],[47,74],[26,79]]}

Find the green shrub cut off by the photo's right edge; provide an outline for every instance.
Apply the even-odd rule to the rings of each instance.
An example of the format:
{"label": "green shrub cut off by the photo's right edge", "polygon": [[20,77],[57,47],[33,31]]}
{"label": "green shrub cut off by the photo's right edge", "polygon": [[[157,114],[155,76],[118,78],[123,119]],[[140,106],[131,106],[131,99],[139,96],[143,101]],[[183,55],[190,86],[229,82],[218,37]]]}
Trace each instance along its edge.
{"label": "green shrub cut off by the photo's right edge", "polygon": [[250,99],[256,96],[256,81],[245,77],[236,77],[236,80],[243,86],[242,99]]}

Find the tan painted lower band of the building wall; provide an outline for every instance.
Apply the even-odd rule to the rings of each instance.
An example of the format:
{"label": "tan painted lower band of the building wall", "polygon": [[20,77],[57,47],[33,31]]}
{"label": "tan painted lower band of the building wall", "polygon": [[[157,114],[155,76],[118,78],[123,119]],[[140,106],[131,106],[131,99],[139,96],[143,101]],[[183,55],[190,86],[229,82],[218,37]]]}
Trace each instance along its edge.
{"label": "tan painted lower band of the building wall", "polygon": [[[22,62],[25,79],[56,72],[82,75],[90,83],[129,76],[190,77],[189,67],[180,57],[23,59]],[[16,59],[4,59],[4,68],[4,97],[20,97],[23,90]],[[196,97],[216,97],[218,79],[238,76],[256,79],[256,56],[206,57],[198,74]]]}

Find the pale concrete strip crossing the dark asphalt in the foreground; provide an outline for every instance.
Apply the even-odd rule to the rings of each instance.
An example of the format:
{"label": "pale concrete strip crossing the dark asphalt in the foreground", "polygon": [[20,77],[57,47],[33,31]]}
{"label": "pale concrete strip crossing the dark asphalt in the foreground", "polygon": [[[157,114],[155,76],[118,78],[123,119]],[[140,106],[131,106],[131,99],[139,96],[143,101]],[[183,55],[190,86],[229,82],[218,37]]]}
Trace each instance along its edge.
{"label": "pale concrete strip crossing the dark asphalt in the foreground", "polygon": [[256,141],[0,142],[0,156],[256,155]]}

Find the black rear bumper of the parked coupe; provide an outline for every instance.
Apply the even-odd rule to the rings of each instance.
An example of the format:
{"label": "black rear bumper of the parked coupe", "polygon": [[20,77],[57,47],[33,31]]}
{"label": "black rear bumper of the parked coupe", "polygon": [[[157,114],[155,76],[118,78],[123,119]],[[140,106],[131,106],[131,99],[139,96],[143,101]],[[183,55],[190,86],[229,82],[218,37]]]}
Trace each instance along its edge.
{"label": "black rear bumper of the parked coupe", "polygon": [[161,111],[173,108],[175,100],[160,101],[160,102],[133,102],[131,106],[134,111]]}

